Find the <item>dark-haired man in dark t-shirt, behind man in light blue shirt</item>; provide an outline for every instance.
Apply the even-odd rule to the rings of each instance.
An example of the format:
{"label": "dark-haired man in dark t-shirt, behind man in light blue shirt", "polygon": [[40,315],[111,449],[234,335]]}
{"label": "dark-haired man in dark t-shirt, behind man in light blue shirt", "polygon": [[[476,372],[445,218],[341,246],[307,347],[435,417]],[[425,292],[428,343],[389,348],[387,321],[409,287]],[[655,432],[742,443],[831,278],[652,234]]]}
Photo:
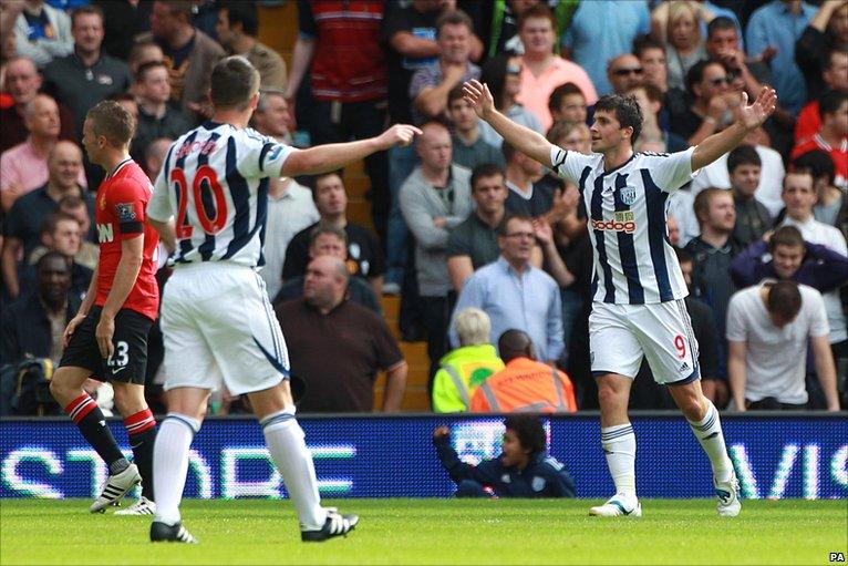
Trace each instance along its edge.
{"label": "dark-haired man in dark t-shirt, behind man in light blue shirt", "polygon": [[472,173],[470,185],[476,210],[456,226],[447,239],[447,272],[456,292],[475,270],[500,255],[497,233],[506,214],[507,188],[500,167],[477,166]]}

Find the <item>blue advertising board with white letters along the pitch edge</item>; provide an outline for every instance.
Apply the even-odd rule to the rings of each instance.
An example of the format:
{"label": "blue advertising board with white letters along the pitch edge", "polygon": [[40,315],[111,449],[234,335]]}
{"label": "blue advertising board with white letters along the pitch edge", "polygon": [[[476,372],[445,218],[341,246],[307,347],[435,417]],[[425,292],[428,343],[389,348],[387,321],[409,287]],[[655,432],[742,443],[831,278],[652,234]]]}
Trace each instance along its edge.
{"label": "blue advertising board with white letters along the pitch edge", "polygon": [[[846,413],[727,413],[731,456],[747,498],[848,498]],[[497,416],[301,416],[325,497],[446,497],[454,484],[432,443],[447,424],[468,462],[498,454]],[[550,454],[581,497],[607,497],[612,482],[597,413],[545,420]],[[635,412],[637,488],[645,497],[710,497],[712,474],[689,425],[674,412]],[[126,433],[110,423],[127,454]],[[0,497],[93,497],[106,469],[66,419],[0,420]],[[192,445],[187,497],[286,497],[252,419],[210,418]]]}

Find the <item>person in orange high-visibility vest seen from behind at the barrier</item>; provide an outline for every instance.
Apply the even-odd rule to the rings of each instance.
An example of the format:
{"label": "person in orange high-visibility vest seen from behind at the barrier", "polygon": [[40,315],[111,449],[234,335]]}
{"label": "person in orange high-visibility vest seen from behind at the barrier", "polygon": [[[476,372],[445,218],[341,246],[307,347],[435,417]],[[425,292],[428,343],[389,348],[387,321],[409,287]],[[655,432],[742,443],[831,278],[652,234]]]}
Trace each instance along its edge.
{"label": "person in orange high-visibility vest seen from behind at the barrier", "polygon": [[527,332],[507,330],[498,339],[498,351],[506,367],[477,388],[472,397],[473,412],[577,411],[571,380],[556,367],[537,361]]}

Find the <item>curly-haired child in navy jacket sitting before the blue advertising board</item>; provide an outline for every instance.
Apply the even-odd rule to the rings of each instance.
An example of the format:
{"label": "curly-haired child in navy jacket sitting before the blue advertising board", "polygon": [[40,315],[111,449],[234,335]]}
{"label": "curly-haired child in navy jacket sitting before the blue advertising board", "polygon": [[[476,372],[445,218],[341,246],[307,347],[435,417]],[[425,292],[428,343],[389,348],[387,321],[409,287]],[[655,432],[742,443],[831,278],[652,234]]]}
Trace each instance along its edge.
{"label": "curly-haired child in navy jacket sitting before the blue advertising board", "polygon": [[571,474],[547,455],[545,428],[538,416],[514,414],[504,421],[501,454],[466,464],[451,446],[451,432],[439,426],[433,444],[442,465],[457,484],[457,497],[575,497]]}

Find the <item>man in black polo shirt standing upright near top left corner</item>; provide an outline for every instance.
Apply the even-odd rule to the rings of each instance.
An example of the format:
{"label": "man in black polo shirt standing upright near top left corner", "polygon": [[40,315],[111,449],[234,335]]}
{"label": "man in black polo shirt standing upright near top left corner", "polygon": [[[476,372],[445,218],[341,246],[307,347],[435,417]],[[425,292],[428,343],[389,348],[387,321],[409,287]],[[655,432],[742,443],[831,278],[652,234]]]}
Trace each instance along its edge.
{"label": "man in black polo shirt standing upright near top left corner", "polygon": [[103,11],[83,6],[73,11],[71,34],[74,51],[54,59],[44,68],[44,90],[66,104],[76,116],[77,138],[82,138],[85,114],[100,101],[125,92],[132,79],[126,63],[102,52]]}

